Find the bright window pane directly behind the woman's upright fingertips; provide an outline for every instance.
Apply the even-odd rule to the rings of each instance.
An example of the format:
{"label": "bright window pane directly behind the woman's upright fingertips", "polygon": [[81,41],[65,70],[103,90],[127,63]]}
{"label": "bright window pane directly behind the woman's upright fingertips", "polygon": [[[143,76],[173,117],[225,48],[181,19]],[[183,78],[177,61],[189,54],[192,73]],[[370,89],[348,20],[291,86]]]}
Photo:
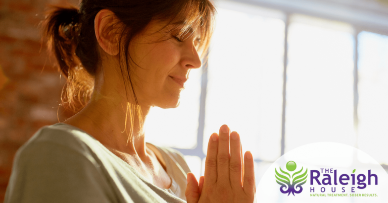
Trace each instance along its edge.
{"label": "bright window pane directly behind the woman's upright fingertips", "polygon": [[280,156],[284,22],[218,9],[209,56],[204,153],[222,124],[254,158]]}

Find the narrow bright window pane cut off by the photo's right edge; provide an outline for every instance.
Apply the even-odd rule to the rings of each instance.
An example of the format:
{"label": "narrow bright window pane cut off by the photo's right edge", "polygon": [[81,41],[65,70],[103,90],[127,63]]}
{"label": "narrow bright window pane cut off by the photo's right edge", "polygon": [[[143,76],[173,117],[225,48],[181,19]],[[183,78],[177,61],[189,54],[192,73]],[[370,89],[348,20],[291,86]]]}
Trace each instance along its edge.
{"label": "narrow bright window pane cut off by the photo's right edge", "polygon": [[361,32],[358,40],[358,148],[388,164],[388,36]]}

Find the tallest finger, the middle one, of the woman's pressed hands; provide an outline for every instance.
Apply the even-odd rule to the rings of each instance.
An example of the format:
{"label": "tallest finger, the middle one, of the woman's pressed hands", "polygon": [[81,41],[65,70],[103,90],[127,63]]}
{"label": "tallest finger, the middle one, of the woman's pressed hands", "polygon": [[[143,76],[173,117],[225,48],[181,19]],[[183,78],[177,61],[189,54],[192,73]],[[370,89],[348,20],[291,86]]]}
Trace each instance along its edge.
{"label": "tallest finger, the middle one, of the woman's pressed hands", "polygon": [[229,159],[229,128],[227,125],[222,125],[218,136],[217,153],[217,182],[222,185],[230,185]]}

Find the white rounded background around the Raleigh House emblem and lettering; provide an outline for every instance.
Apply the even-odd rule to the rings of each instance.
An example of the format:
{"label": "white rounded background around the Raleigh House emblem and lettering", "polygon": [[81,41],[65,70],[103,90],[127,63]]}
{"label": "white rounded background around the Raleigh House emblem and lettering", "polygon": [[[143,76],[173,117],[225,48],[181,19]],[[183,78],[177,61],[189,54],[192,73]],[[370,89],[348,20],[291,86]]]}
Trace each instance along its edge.
{"label": "white rounded background around the Raleigh House emblem and lettering", "polygon": [[[294,161],[297,164],[294,172],[300,171],[302,167],[303,172],[306,168],[308,169],[307,181],[302,185],[303,191],[295,195],[282,193],[281,185],[276,182],[275,169],[278,172],[279,167],[286,169],[288,161]],[[353,173],[354,169],[356,170]],[[311,185],[311,170],[320,172],[318,180],[321,185],[318,185],[315,180]],[[329,172],[326,173],[325,170]],[[337,185],[334,185],[334,170],[336,170]],[[368,170],[378,177],[377,185],[374,184],[374,177],[371,177],[371,184],[368,185]],[[331,176],[331,185],[322,184],[323,174]],[[344,181],[348,182],[348,185],[338,182],[341,174],[347,174],[350,177],[349,180]],[[355,174],[355,185],[352,185],[351,174]],[[357,188],[359,186],[357,175],[359,174],[366,176],[366,180],[363,181],[366,183],[364,189]],[[317,174],[315,173],[314,176]],[[352,192],[352,187],[354,192]],[[312,188],[314,191],[311,191]],[[334,188],[335,192],[332,192]],[[321,189],[324,192],[321,192]],[[312,196],[314,194],[325,196]],[[330,194],[347,194],[348,196],[330,196]],[[350,196],[352,194],[361,196]],[[362,194],[372,196],[362,196]],[[312,143],[291,150],[277,159],[260,180],[256,197],[258,202],[388,202],[388,174],[372,157],[352,146],[333,142]]]}

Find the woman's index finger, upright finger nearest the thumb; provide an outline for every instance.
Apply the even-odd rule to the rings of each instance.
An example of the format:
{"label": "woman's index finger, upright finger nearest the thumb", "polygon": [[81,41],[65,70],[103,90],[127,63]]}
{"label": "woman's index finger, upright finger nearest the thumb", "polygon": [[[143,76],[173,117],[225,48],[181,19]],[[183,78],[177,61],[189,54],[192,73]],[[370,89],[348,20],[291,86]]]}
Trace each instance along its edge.
{"label": "woman's index finger, upright finger nearest the thumb", "polygon": [[217,181],[217,153],[218,153],[218,135],[213,133],[210,136],[208,144],[208,153],[205,161],[206,184]]}

